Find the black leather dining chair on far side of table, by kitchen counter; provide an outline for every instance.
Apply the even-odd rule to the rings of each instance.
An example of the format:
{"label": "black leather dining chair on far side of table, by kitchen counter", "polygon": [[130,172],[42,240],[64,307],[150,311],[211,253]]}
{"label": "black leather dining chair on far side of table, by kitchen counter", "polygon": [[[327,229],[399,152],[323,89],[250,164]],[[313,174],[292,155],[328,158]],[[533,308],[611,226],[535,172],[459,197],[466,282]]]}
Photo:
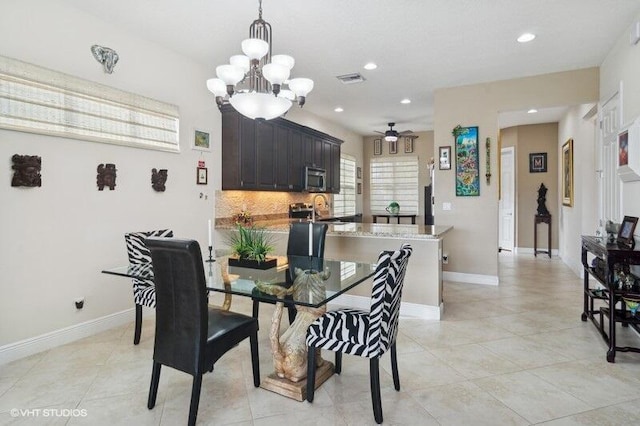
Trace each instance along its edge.
{"label": "black leather dining chair on far side of table, by kitchen counter", "polygon": [[[314,222],[312,226],[312,238],[313,246],[311,257],[318,259],[318,264],[322,263],[324,258],[324,242],[327,236],[327,229],[329,226],[326,223]],[[309,222],[293,222],[289,229],[289,239],[287,240],[287,256],[308,256],[309,255]],[[290,285],[295,280],[294,268],[289,267],[286,272],[287,285]],[[254,289],[254,295],[260,295],[258,289]],[[260,308],[260,301],[253,297],[253,317],[258,318],[258,311]],[[286,296],[285,299],[292,299],[291,296]],[[263,300],[264,302],[264,300]],[[275,303],[268,301],[267,303]],[[286,303],[289,313],[289,324],[293,323],[296,318],[296,307],[293,303]]]}

